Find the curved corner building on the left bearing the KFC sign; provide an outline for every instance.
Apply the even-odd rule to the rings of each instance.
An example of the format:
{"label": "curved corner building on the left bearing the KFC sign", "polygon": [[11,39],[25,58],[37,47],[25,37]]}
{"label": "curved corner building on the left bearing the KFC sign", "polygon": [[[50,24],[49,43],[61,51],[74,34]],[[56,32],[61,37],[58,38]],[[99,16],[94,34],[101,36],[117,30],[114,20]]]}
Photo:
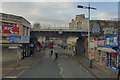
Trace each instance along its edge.
{"label": "curved corner building on the left bearing the KFC sign", "polygon": [[22,49],[28,52],[30,40],[30,22],[21,16],[0,13],[0,43],[2,52],[5,49],[17,48],[22,45]]}

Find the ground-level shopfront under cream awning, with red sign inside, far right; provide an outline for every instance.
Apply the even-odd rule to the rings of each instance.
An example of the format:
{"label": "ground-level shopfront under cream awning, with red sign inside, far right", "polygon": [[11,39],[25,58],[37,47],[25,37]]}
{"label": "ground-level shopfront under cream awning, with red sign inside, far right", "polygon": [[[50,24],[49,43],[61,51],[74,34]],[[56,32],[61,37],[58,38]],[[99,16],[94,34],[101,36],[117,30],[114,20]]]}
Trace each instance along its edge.
{"label": "ground-level shopfront under cream awning, with red sign inside, far right", "polygon": [[98,48],[100,59],[99,62],[104,66],[110,67],[117,71],[118,67],[118,55],[117,51],[112,48],[101,47]]}

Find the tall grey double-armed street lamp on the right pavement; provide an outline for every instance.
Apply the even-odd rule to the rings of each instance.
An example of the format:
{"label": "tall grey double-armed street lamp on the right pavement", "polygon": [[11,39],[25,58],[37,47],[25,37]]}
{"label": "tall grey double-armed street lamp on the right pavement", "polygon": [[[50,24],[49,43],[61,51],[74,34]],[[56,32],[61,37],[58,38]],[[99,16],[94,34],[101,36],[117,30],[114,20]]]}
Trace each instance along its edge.
{"label": "tall grey double-armed street lamp on the right pavement", "polygon": [[[81,5],[78,5],[77,7],[78,8],[83,8],[83,9],[88,9],[88,19],[89,19],[89,26],[88,26],[88,55],[89,55],[90,54],[90,44],[89,44],[89,42],[90,42],[90,10],[91,9],[96,10],[96,8],[90,7],[90,3],[89,3],[88,7],[87,6],[81,6]],[[89,60],[89,62],[90,62],[90,68],[92,68],[92,59]]]}

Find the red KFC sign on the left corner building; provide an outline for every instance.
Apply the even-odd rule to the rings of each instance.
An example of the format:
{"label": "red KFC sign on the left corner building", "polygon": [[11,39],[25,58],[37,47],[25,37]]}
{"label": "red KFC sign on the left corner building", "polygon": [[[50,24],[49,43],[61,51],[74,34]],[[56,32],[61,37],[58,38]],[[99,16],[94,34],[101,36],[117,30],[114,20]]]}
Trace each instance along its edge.
{"label": "red KFC sign on the left corner building", "polygon": [[15,34],[18,35],[19,34],[19,28],[18,27],[11,27],[11,26],[1,26],[2,27],[2,34]]}

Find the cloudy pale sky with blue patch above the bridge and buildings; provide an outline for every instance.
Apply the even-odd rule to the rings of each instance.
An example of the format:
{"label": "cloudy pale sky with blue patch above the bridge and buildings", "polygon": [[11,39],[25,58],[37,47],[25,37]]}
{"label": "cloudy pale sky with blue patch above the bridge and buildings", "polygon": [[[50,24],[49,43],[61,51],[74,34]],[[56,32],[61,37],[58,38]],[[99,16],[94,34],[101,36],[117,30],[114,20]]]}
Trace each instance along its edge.
{"label": "cloudy pale sky with blue patch above the bridge and buildings", "polygon": [[[0,11],[22,16],[31,24],[39,22],[42,26],[68,26],[76,15],[85,14],[87,9],[77,8],[77,5],[88,6],[88,2],[2,2]],[[90,2],[92,20],[111,20],[118,17],[118,2]]]}

